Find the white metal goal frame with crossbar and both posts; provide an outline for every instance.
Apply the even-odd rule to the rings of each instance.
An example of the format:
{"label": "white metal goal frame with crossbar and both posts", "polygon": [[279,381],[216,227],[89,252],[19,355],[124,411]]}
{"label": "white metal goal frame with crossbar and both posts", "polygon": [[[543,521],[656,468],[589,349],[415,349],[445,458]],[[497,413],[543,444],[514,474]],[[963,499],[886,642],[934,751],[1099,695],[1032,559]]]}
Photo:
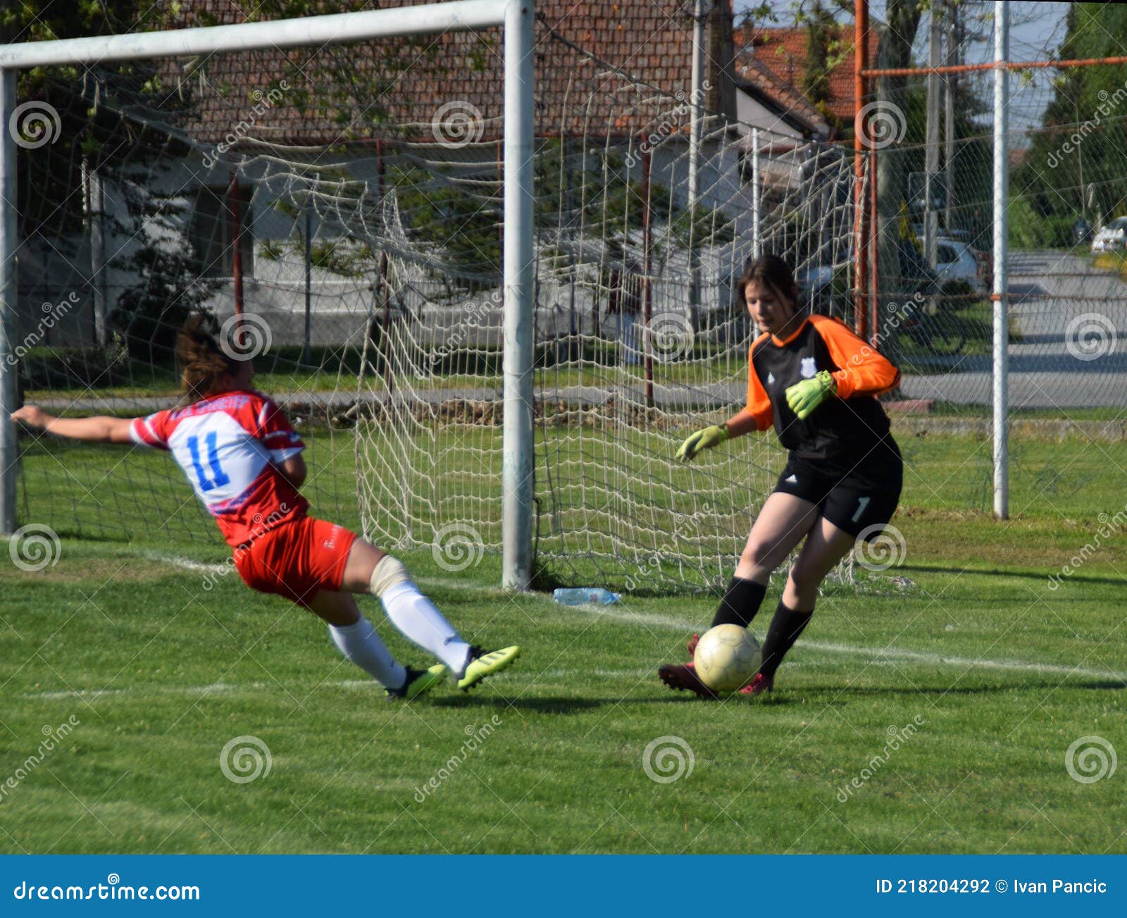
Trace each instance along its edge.
{"label": "white metal goal frame with crossbar and both posts", "polygon": [[502,585],[525,589],[533,531],[533,5],[453,0],[418,7],[243,25],[28,42],[0,47],[0,530],[16,530],[17,403],[16,82],[20,70],[101,61],[326,45],[477,28],[504,28],[504,422]]}

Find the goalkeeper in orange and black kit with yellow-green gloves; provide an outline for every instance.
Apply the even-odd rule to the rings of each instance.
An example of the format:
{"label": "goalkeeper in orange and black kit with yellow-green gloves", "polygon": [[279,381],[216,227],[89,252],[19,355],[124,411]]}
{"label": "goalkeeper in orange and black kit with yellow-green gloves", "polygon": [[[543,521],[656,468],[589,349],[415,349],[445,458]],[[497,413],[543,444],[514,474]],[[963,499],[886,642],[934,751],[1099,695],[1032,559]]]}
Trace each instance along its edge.
{"label": "goalkeeper in orange and black kit with yellow-green gloves", "polygon": [[[712,619],[747,627],[771,572],[802,542],[763,642],[763,664],[740,689],[758,695],[771,691],[779,663],[809,624],[822,580],[896,511],[904,464],[876,397],[895,388],[899,371],[842,323],[806,314],[790,266],[775,255],[748,265],[738,291],[762,333],[751,350],[747,406],[692,434],[677,458],[691,461],[772,425],[789,452]],[[694,636],[690,654],[695,646]],[[692,663],[664,665],[658,676],[672,689],[715,697]]]}

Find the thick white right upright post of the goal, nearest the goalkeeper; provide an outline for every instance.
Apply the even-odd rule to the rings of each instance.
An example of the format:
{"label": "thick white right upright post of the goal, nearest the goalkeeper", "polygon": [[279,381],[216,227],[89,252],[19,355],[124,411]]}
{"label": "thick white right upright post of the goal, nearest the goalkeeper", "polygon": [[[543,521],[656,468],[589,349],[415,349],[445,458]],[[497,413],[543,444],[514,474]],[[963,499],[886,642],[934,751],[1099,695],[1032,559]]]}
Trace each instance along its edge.
{"label": "thick white right upright post of the goal, nearest the goalkeeper", "polygon": [[[397,10],[397,12],[400,10]],[[505,7],[505,304],[502,427],[502,586],[532,580],[533,376],[532,338],[532,0]]]}

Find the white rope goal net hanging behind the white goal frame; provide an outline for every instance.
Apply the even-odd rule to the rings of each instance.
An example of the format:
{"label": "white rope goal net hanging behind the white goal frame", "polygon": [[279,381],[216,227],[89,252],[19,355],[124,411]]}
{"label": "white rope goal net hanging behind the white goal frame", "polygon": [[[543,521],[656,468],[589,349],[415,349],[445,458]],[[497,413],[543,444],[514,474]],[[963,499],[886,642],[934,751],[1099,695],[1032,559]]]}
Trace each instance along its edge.
{"label": "white rope goal net hanging behind the white goal frame", "polygon": [[[539,582],[713,588],[783,457],[770,435],[675,452],[744,404],[751,257],[846,301],[852,155],[721,116],[706,87],[694,156],[685,91],[536,29]],[[451,572],[499,551],[521,228],[494,33],[23,74],[21,398],[169,407],[176,329],[204,311],[305,438],[318,515]],[[19,486],[20,522],[60,535],[214,541],[161,456],[25,435]]]}

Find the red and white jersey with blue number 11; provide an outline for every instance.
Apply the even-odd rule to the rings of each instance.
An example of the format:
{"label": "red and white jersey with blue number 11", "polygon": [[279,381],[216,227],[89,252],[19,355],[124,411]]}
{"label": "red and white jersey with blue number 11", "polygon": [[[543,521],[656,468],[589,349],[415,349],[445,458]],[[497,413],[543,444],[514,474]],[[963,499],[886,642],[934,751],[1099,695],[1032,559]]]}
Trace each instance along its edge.
{"label": "red and white jersey with blue number 11", "polygon": [[136,417],[130,434],[171,451],[232,547],[305,515],[309,502],[275,467],[305,444],[261,392],[223,392]]}

